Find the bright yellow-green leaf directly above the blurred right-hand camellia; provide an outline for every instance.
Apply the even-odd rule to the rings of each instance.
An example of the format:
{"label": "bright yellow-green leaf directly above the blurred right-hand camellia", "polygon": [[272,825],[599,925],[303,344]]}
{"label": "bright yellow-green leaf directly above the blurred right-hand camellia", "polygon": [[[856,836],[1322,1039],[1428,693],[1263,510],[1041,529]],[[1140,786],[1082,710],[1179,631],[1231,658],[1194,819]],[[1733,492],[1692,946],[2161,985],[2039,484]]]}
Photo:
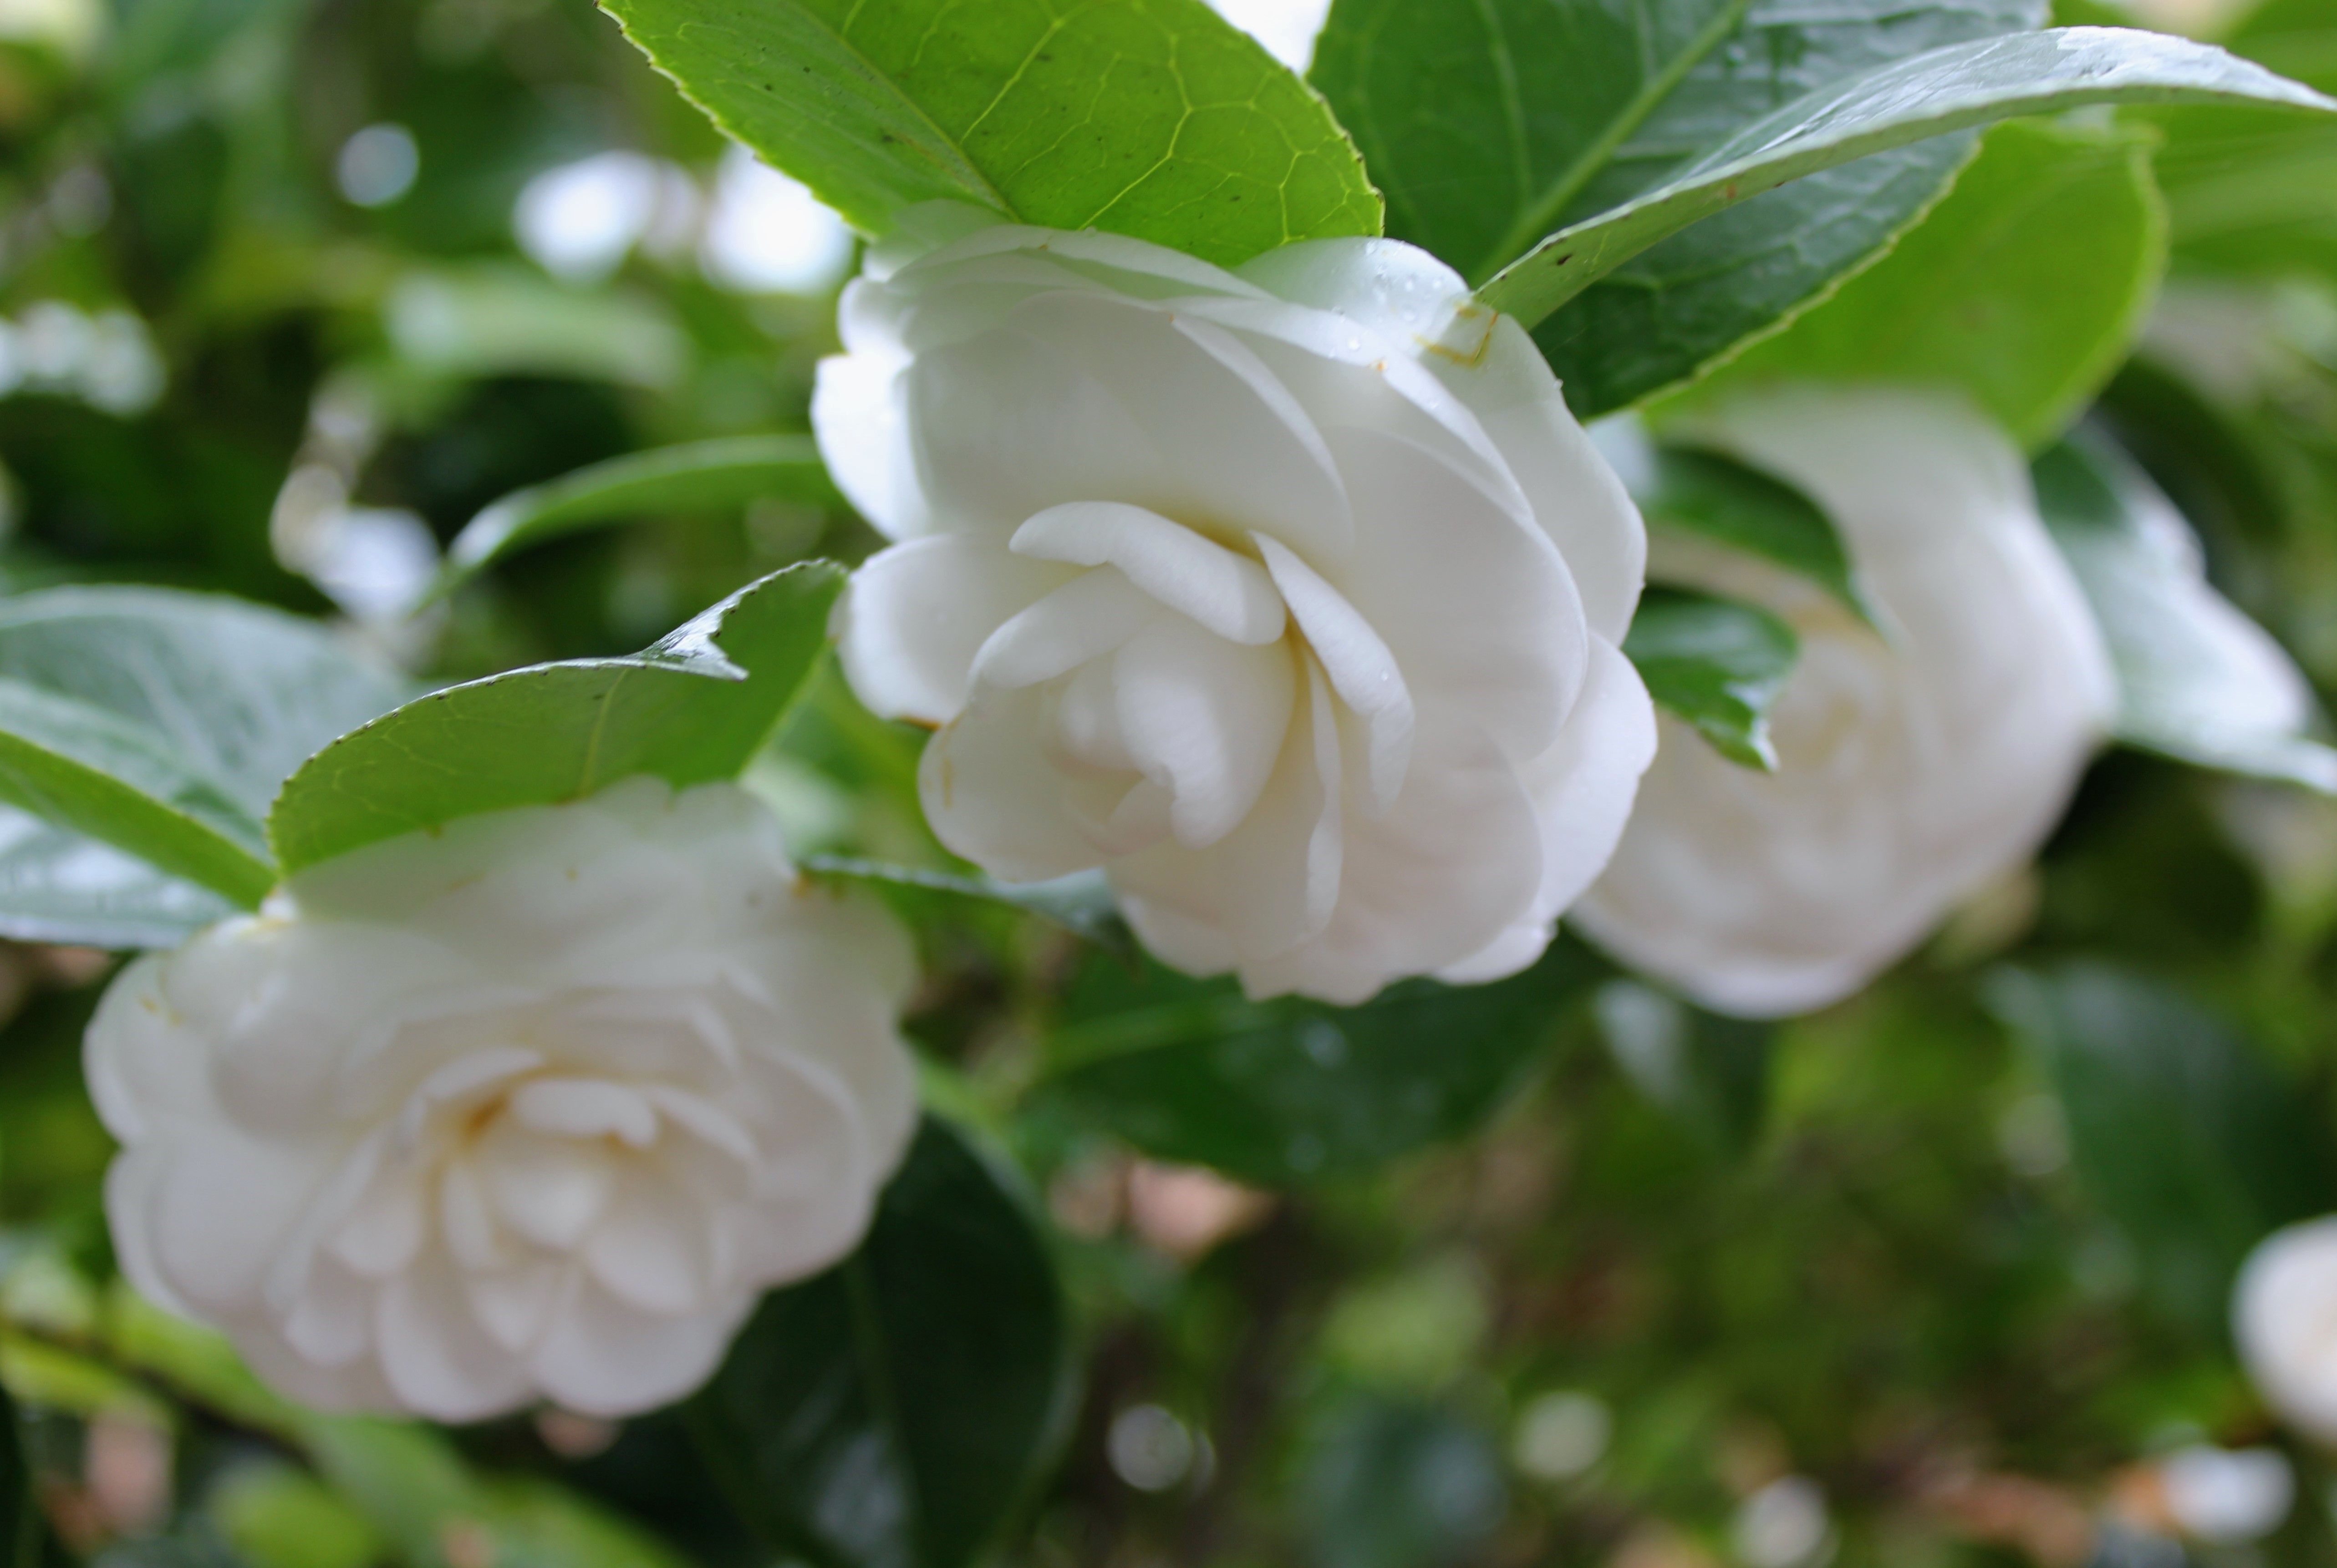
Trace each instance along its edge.
{"label": "bright yellow-green leaf directly above the blurred right-hand camellia", "polygon": [[2166,266],[2152,143],[2131,126],[1998,126],[1891,255],[1694,397],[1764,376],[1951,386],[2022,442],[2052,439],[2127,358]]}

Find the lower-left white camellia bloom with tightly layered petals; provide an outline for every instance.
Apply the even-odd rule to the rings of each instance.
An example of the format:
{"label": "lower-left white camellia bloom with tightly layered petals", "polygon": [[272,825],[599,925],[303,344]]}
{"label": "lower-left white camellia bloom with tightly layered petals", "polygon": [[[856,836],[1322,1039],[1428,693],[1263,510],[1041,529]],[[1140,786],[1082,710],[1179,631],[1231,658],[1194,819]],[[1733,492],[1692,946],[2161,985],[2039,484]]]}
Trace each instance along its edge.
{"label": "lower-left white camellia bloom with tightly layered petals", "polygon": [[736,785],[374,844],[105,993],[115,1246],[306,1404],[664,1404],[867,1229],[911,979]]}

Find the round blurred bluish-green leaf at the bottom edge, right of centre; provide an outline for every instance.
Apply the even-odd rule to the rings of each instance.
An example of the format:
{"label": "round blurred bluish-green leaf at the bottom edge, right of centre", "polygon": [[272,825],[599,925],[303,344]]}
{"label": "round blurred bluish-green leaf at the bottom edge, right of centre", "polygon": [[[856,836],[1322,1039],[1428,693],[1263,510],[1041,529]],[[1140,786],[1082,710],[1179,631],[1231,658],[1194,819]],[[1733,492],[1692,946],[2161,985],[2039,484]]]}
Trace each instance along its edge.
{"label": "round blurred bluish-green leaf at the bottom edge, right of centre", "polygon": [[1500,1449],[1414,1400],[1351,1395],[1309,1435],[1299,1517],[1323,1568],[1475,1561],[1510,1507]]}

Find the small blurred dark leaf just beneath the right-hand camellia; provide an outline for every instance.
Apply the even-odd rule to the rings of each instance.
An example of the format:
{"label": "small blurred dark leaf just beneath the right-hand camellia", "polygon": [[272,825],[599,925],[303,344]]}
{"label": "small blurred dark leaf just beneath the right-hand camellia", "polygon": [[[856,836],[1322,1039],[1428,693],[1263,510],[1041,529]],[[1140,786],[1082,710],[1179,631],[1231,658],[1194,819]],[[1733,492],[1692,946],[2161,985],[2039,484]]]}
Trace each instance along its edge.
{"label": "small blurred dark leaf just beneath the right-hand camellia", "polygon": [[1722,1157],[1760,1138],[1769,1110],[1771,1024],[1725,1019],[1631,979],[1594,998],[1599,1033],[1641,1094]]}

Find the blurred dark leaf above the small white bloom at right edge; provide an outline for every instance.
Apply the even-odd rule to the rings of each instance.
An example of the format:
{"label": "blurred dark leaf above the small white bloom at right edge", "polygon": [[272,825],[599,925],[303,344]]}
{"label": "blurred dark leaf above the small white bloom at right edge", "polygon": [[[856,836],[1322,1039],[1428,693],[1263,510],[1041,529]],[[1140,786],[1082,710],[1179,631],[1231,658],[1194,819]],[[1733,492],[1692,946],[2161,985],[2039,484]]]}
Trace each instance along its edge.
{"label": "blurred dark leaf above the small white bloom at right edge", "polygon": [[2136,1248],[2152,1295],[2218,1330],[2265,1231],[2323,1213],[2328,1133],[2227,1024],[2103,965],[2003,972],[1989,1002],[2038,1052],[2078,1178]]}

